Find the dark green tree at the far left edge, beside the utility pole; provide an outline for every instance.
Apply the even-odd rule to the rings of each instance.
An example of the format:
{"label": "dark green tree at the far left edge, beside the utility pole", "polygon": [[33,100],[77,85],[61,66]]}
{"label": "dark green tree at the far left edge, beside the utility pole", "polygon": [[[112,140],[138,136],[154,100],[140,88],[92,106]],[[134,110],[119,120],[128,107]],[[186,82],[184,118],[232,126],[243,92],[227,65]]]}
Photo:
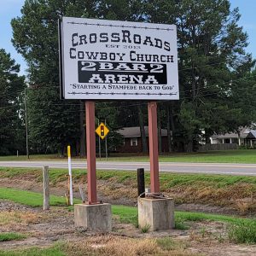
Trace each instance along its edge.
{"label": "dark green tree at the far left edge, beside the utility pole", "polygon": [[0,154],[15,154],[25,149],[22,91],[24,76],[20,66],[4,49],[0,49]]}

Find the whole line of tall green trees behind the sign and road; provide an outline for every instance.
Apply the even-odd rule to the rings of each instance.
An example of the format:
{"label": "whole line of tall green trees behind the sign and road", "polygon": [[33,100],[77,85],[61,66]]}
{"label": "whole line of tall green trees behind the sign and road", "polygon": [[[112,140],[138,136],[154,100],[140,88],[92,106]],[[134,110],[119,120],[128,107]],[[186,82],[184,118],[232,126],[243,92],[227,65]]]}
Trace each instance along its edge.
{"label": "whole line of tall green trees behind the sign and road", "polygon": [[[239,131],[256,120],[255,61],[246,52],[239,9],[229,0],[26,0],[11,21],[12,42],[28,66],[26,84],[15,61],[0,51],[1,154],[25,151],[26,88],[32,152],[63,154],[71,144],[85,155],[84,102],[59,97],[57,24],[63,15],[177,25],[180,100],[158,103],[158,127],[167,129],[170,152],[191,152],[213,133]],[[121,141],[117,129],[140,126],[147,151],[145,102],[97,102],[96,118],[107,119],[110,149]]]}

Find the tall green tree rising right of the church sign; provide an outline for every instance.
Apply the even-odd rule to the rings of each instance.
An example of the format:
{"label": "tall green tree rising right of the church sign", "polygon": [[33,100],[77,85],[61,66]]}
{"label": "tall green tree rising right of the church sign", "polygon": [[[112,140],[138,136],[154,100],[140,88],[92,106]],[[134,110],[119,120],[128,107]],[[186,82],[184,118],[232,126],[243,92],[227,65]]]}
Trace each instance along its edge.
{"label": "tall green tree rising right of the church sign", "polygon": [[[183,134],[185,149],[195,149],[202,130],[207,139],[213,132],[235,131],[250,122],[241,111],[246,102],[241,96],[239,99],[232,83],[250,72],[254,64],[252,55],[245,52],[247,34],[237,25],[238,9],[231,10],[228,0],[147,3],[148,20],[177,24],[181,99],[176,102],[179,125],[175,126],[181,128],[176,132]],[[245,90],[251,89],[248,85]],[[237,119],[242,115],[243,120]]]}

